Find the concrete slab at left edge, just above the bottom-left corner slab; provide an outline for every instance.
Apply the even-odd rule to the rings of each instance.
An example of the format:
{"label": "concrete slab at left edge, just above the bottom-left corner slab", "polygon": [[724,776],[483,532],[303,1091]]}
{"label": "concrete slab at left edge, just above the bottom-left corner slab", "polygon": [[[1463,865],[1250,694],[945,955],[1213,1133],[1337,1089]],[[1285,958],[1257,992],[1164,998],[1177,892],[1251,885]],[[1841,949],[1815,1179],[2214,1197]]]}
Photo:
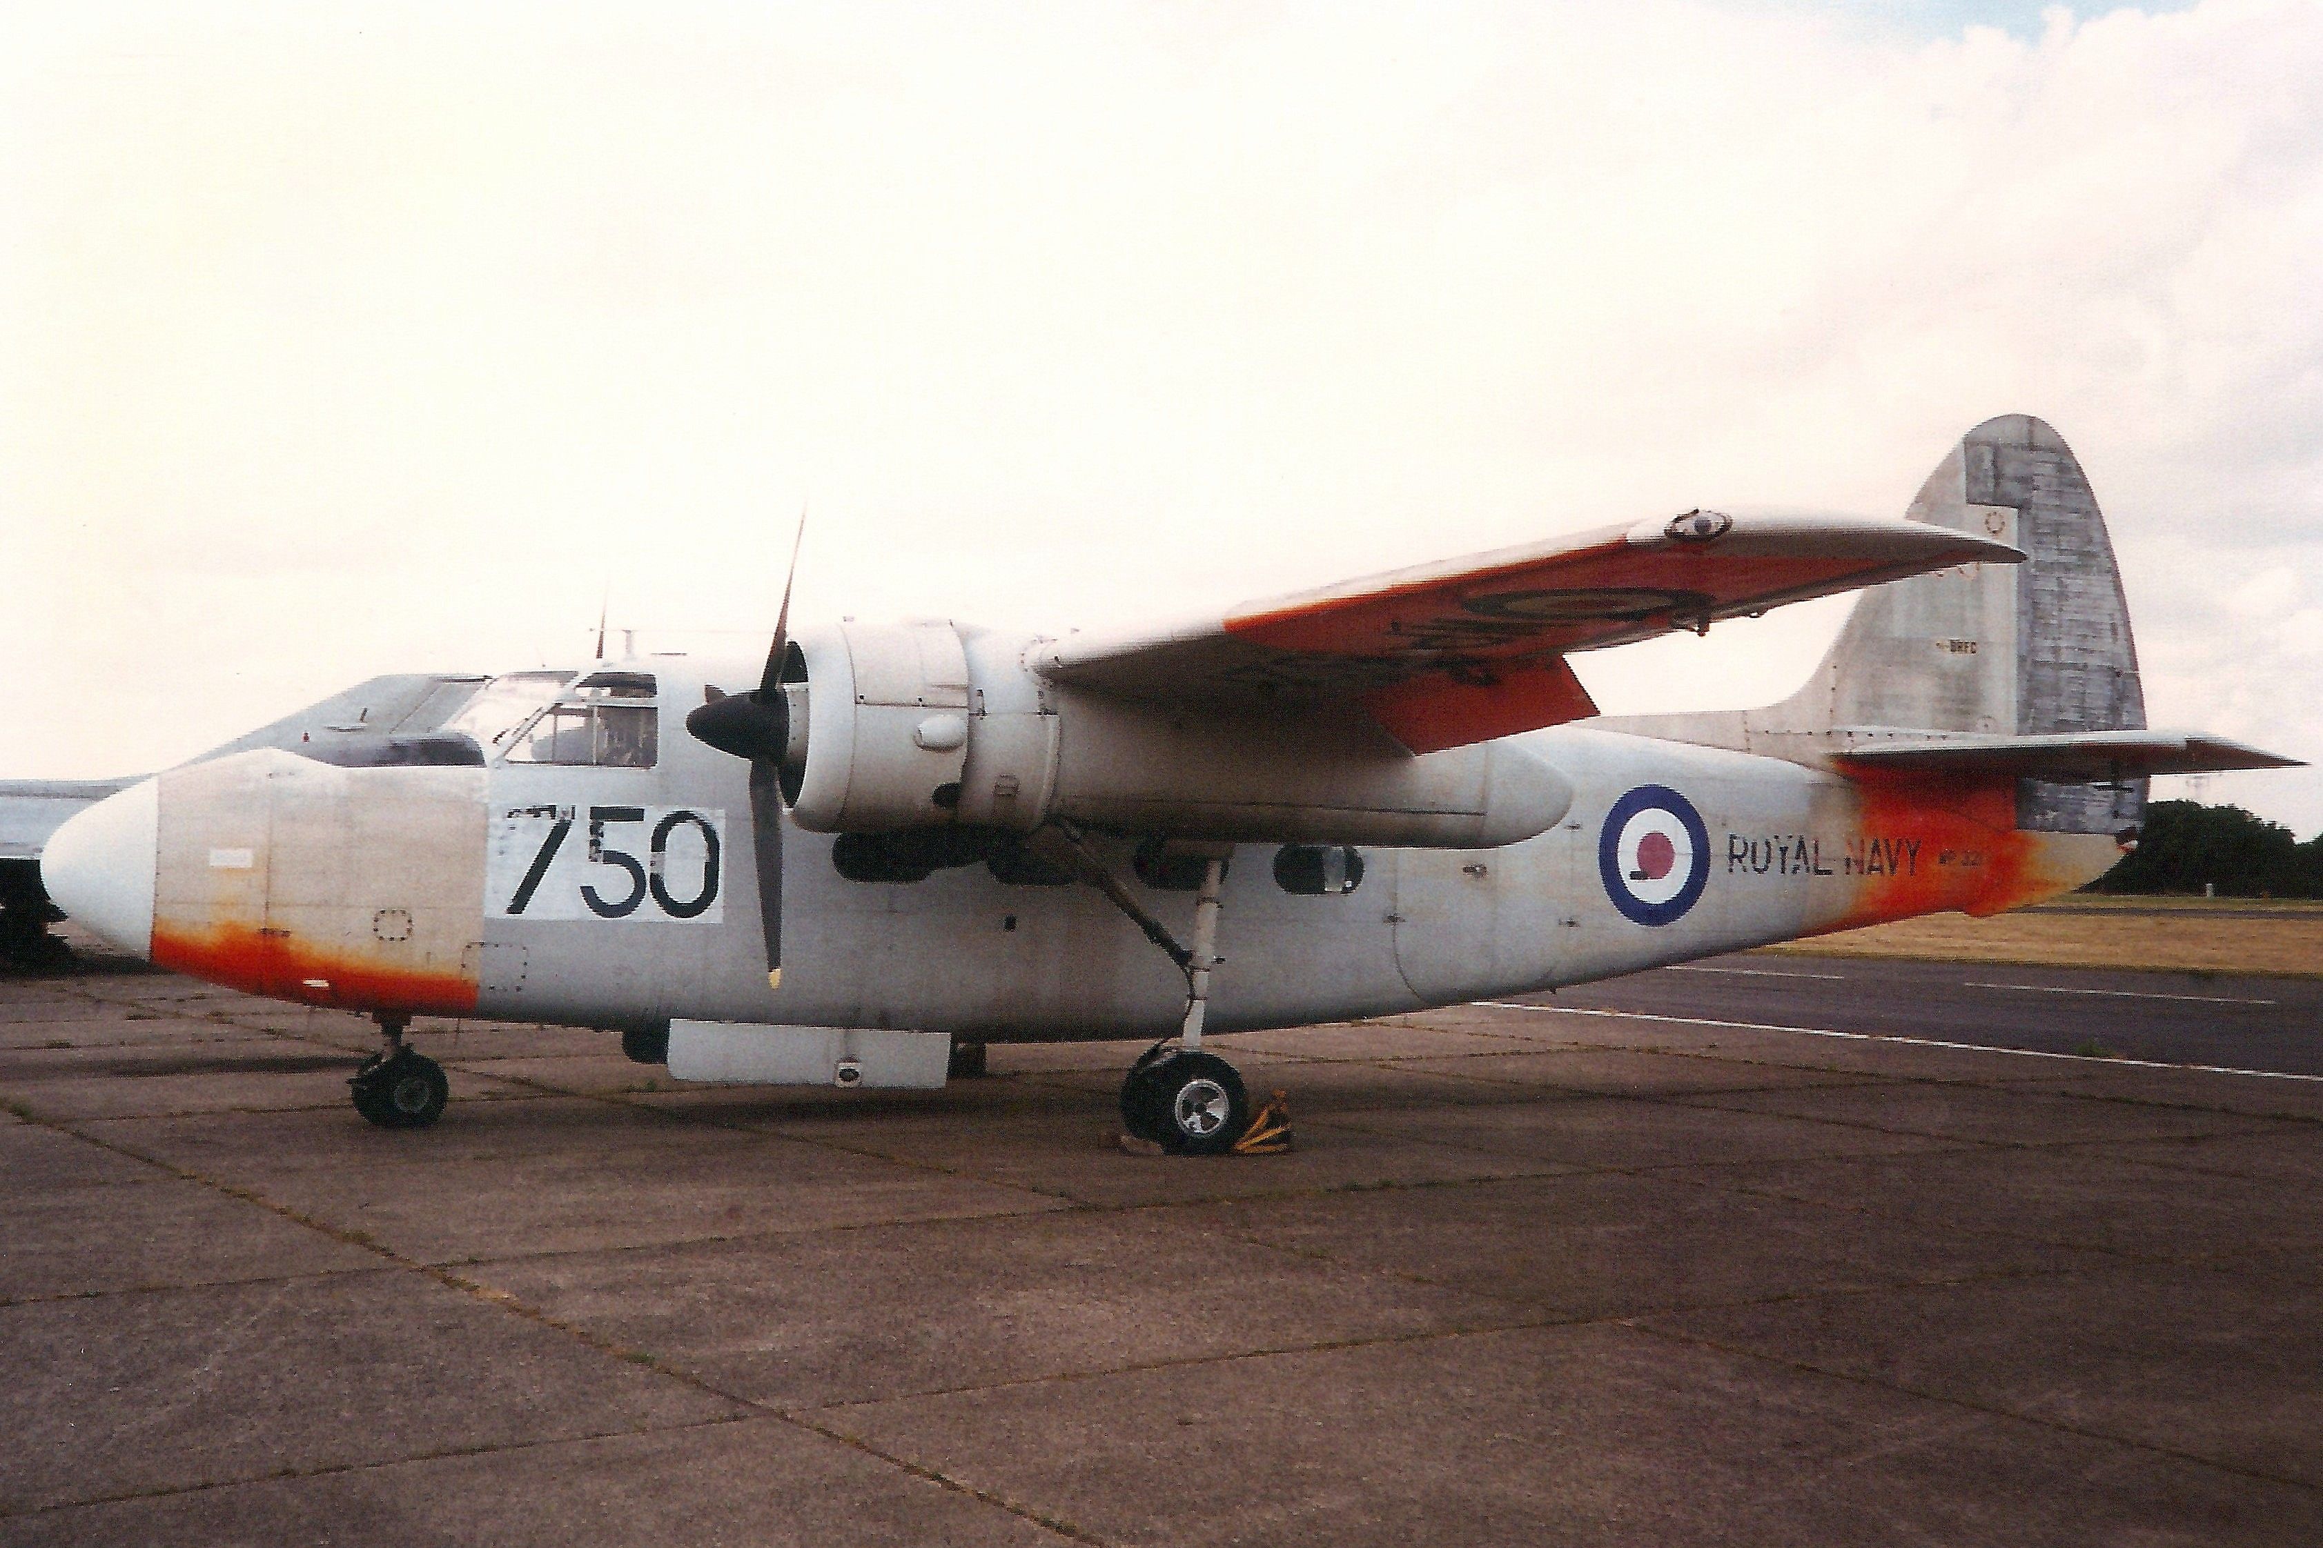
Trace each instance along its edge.
{"label": "concrete slab at left edge, just above the bottom-left corner slab", "polygon": [[0,1511],[736,1413],[409,1269],[0,1307]]}

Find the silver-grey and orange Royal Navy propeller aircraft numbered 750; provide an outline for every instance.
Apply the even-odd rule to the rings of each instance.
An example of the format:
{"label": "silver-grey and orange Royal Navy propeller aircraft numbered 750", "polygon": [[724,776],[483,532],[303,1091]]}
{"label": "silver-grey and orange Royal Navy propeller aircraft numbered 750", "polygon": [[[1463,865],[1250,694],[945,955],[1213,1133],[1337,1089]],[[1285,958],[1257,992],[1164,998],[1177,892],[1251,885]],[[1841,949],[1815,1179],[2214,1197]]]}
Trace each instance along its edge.
{"label": "silver-grey and orange Royal Navy propeller aircraft numbered 750", "polygon": [[[1772,708],[1603,719],[1568,661],[1858,587]],[[1134,1037],[1124,1126],[1215,1153],[1250,1105],[1206,1030],[1991,914],[2102,875],[2146,775],[2290,761],[2144,729],[2105,522],[2023,415],[1905,520],[1686,511],[1062,638],[787,615],[762,668],[518,671],[172,768],[42,877],[158,965],[376,1017],[381,1126],[444,1112],[418,1014],[618,1028],[690,1082]]]}

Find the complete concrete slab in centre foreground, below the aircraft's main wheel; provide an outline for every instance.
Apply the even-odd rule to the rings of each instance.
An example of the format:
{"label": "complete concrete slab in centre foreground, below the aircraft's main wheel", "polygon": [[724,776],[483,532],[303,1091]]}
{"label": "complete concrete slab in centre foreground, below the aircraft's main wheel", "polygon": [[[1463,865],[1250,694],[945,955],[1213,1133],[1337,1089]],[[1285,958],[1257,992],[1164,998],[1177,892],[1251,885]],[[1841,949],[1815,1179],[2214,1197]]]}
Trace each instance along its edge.
{"label": "complete concrete slab in centre foreground, below the aircraft's main wheel", "polygon": [[481,1265],[560,1323],[776,1406],[987,1388],[1524,1316],[1463,1290],[1136,1209]]}

